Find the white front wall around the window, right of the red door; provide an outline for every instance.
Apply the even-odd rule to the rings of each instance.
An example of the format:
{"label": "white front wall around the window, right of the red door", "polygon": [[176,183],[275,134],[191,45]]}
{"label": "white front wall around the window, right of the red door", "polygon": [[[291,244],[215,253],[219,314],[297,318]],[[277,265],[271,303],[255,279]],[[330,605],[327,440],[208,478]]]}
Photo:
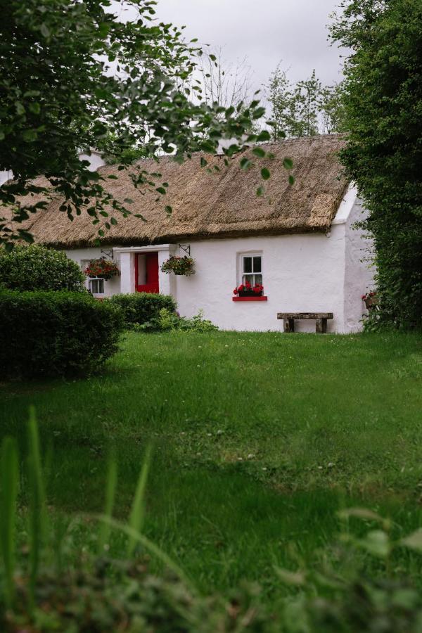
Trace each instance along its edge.
{"label": "white front wall around the window, right of the red door", "polygon": [[[173,276],[172,294],[179,312],[207,319],[227,330],[283,330],[277,312],[333,312],[328,331],[343,331],[344,224],[330,237],[321,234],[236,238],[191,242],[196,274]],[[262,251],[267,301],[234,302],[240,280],[238,254]],[[181,254],[181,253],[180,253]],[[314,321],[300,321],[298,331],[315,331]]]}

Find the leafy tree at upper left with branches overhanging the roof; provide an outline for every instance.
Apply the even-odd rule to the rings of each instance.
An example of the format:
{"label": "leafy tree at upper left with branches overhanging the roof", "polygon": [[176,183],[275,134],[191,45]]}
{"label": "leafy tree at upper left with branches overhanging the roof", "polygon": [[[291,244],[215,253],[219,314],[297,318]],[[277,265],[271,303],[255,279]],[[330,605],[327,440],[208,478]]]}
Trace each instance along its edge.
{"label": "leafy tree at upper left with branches overhanging the roof", "polygon": [[[193,98],[200,94],[196,82],[181,89],[198,67],[196,40],[186,43],[177,27],[155,20],[155,0],[125,4],[136,12],[131,22],[113,14],[111,0],[9,0],[2,7],[0,170],[11,170],[14,181],[0,188],[0,204],[13,209],[13,222],[0,213],[1,241],[31,241],[19,223],[51,196],[63,198],[60,211],[70,219],[89,201],[100,237],[116,215],[128,215],[101,174],[78,159],[81,149],[100,146],[107,136],[123,148],[143,146],[155,158],[172,154],[177,162],[194,151],[214,153],[222,138],[235,139],[228,155],[245,136],[269,139],[268,132],[247,134],[264,113],[257,100],[238,112]],[[119,160],[124,169],[132,156]],[[40,174],[48,186],[34,184]],[[159,172],[139,167],[132,177],[135,186],[165,196]],[[18,203],[29,194],[38,198]]]}

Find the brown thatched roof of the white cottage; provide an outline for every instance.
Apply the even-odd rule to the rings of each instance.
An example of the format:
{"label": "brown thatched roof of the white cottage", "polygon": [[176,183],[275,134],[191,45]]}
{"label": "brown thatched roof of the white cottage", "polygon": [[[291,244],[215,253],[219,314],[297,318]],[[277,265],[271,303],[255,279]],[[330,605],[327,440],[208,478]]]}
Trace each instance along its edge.
{"label": "brown thatched roof of the white cottage", "polygon": [[[118,177],[106,181],[108,191],[120,201],[132,198],[133,203],[127,206],[146,218],[143,222],[117,214],[118,224],[106,232],[102,241],[143,245],[327,231],[347,186],[340,177],[337,156],[343,143],[336,135],[268,143],[264,148],[275,158],[253,158],[255,167],[248,170],[241,170],[238,156],[229,160],[228,167],[223,157],[206,157],[211,168],[219,167],[220,171],[212,174],[200,167],[200,155],[193,155],[183,165],[177,165],[170,157],[162,158],[159,165],[143,160],[138,164],[143,170],[160,172],[160,181],[169,184],[167,195],[159,196],[158,202],[156,193],[143,194],[134,188],[128,172],[118,172],[115,166],[101,167],[101,175]],[[250,151],[245,152],[249,154]],[[288,172],[283,168],[286,157],[294,163],[293,186],[288,184]],[[271,171],[271,178],[265,183],[260,175],[264,166]],[[256,190],[263,184],[264,196],[258,197]],[[165,205],[172,206],[170,217]],[[91,224],[91,217],[83,214],[70,222],[59,206],[60,200],[53,200],[46,211],[37,212],[25,223],[35,241],[72,248],[88,245],[97,237],[98,226]]]}

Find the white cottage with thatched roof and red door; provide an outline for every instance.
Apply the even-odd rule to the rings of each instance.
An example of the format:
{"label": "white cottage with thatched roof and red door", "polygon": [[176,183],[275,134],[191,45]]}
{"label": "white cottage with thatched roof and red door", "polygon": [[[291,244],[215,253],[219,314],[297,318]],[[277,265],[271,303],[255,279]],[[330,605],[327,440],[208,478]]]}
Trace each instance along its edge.
{"label": "white cottage with thatched roof and red door", "polygon": [[[368,266],[371,244],[354,228],[362,219],[356,190],[340,177],[340,136],[316,136],[271,143],[265,160],[271,179],[265,193],[263,163],[241,170],[238,156],[224,165],[223,157],[209,161],[211,172],[194,155],[184,165],[171,158],[160,164],[141,162],[141,168],[160,172],[168,183],[165,200],[141,193],[129,172],[100,167],[102,175],[117,175],[107,188],[119,200],[132,198],[132,212],[106,233],[101,248],[94,247],[97,228],[87,215],[70,223],[58,211],[60,200],[31,219],[37,242],[64,249],[82,268],[94,257],[113,258],[120,276],[110,281],[87,280],[98,297],[141,291],[171,294],[179,312],[205,317],[220,328],[278,331],[278,312],[333,312],[328,331],[359,331],[365,312],[362,295],[372,288]],[[295,184],[288,184],[283,158],[293,159]],[[215,169],[217,167],[217,169]],[[134,167],[135,169],[135,167]],[[172,206],[167,217],[164,206]],[[195,274],[176,276],[161,271],[170,255],[189,253]],[[263,295],[241,298],[235,286],[262,283]],[[312,321],[299,321],[297,331],[315,331]]]}

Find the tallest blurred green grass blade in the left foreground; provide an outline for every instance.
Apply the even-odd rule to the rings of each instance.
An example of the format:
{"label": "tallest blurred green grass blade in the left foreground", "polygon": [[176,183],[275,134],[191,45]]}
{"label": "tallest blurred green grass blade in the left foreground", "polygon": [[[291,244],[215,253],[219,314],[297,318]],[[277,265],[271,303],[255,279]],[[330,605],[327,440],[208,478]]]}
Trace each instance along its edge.
{"label": "tallest blurred green grass blade in the left foreground", "polygon": [[39,452],[39,435],[34,407],[30,407],[28,423],[28,490],[29,498],[29,529],[30,540],[30,597],[34,604],[34,589],[37,582],[41,546],[45,542],[48,530],[46,513],[46,495]]}

